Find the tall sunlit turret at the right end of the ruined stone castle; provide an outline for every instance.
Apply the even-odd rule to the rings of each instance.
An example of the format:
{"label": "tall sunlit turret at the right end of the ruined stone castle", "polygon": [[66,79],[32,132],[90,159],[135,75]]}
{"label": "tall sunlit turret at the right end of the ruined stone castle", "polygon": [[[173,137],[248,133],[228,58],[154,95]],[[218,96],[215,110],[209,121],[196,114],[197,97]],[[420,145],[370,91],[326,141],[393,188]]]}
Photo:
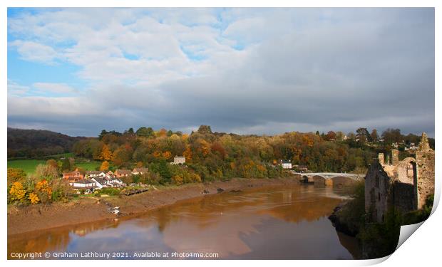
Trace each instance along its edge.
{"label": "tall sunlit turret at the right end of the ruined stone castle", "polygon": [[428,195],[434,194],[434,150],[431,150],[425,132],[422,133],[419,148],[416,150],[416,172],[415,203],[416,209],[421,209]]}

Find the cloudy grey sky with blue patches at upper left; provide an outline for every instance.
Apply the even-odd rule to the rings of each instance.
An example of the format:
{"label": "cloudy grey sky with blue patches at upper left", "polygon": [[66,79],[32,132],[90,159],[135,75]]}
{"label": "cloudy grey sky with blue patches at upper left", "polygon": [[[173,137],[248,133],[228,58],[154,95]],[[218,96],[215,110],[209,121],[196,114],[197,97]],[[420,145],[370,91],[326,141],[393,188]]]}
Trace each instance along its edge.
{"label": "cloudy grey sky with blue patches at upper left", "polygon": [[434,135],[433,9],[8,9],[8,126]]}

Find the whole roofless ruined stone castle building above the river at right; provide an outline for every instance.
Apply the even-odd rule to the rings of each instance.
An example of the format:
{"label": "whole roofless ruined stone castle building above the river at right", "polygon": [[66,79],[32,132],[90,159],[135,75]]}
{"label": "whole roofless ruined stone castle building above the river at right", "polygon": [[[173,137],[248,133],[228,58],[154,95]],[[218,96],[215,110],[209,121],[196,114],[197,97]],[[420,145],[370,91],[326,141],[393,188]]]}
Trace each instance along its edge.
{"label": "whole roofless ruined stone castle building above the river at right", "polygon": [[385,162],[384,154],[379,153],[365,177],[365,210],[371,221],[384,221],[390,209],[421,209],[430,194],[434,194],[434,150],[425,133],[416,158],[399,161],[399,150],[391,150],[390,160]]}

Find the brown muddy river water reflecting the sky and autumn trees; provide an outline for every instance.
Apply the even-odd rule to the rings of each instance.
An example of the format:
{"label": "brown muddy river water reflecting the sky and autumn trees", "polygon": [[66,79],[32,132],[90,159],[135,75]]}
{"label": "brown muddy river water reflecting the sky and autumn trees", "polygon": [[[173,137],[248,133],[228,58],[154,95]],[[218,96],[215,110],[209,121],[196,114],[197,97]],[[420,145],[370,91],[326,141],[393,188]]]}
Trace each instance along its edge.
{"label": "brown muddy river water reflecting the sky and autumn trees", "polygon": [[[347,197],[332,187],[223,192],[130,219],[9,236],[11,253],[49,258],[352,259],[356,239],[327,219]],[[109,254],[107,254],[109,253]]]}

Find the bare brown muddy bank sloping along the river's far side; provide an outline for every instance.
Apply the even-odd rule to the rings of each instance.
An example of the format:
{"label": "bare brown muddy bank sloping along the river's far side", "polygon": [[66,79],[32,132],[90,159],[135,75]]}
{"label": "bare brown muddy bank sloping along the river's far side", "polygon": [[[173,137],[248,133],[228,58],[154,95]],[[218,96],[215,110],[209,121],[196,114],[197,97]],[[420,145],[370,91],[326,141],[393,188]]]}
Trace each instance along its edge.
{"label": "bare brown muddy bank sloping along the river's far side", "polygon": [[[250,190],[261,187],[299,184],[294,177],[279,179],[232,179],[227,182],[185,184],[181,187],[153,189],[130,197],[84,197],[68,203],[38,204],[8,207],[8,236],[51,229],[60,226],[83,224],[93,221],[113,220],[133,216],[176,201],[217,194],[222,191]],[[107,202],[107,204],[106,204]],[[108,212],[108,207],[120,206],[120,214]]]}

